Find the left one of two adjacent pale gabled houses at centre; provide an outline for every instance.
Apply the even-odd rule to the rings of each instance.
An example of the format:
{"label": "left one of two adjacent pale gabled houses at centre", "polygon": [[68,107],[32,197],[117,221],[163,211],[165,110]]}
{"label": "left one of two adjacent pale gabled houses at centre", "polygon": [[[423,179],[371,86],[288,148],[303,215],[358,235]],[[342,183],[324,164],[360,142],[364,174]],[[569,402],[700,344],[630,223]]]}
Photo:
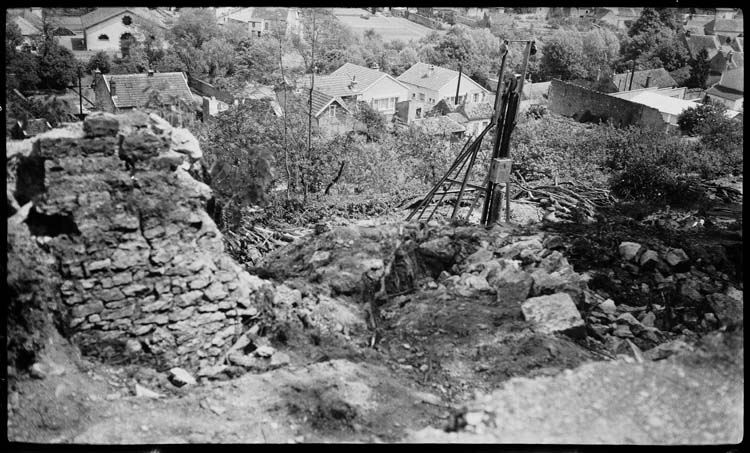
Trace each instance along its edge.
{"label": "left one of two adjacent pale gabled houses at centre", "polygon": [[[300,85],[309,89],[311,80],[308,74]],[[353,63],[345,63],[329,75],[316,76],[313,83],[314,89],[347,103],[366,102],[388,120],[396,113],[396,104],[409,94],[409,88],[391,75]]]}

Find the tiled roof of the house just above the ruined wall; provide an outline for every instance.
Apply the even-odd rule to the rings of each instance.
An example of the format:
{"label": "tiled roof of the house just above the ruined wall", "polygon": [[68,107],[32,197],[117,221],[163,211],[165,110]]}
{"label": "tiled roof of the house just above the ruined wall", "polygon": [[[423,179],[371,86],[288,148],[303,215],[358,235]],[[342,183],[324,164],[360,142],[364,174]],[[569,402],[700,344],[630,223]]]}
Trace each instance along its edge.
{"label": "tiled roof of the house just above the ruined wall", "polygon": [[[107,86],[116,83],[115,105],[118,108],[139,107],[148,101],[148,91],[153,88],[159,91],[163,99],[177,96],[190,101],[193,95],[188,88],[187,80],[181,72],[157,72],[148,74],[107,74],[104,76]],[[111,88],[110,88],[111,90]]]}

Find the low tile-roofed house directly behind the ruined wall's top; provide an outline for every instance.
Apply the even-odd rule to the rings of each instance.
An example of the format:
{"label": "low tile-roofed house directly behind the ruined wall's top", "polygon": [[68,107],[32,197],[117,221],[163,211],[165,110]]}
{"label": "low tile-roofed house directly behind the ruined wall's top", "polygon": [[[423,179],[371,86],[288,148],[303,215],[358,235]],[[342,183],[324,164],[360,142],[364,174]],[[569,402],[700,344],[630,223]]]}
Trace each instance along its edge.
{"label": "low tile-roofed house directly behind the ruined wall's top", "polygon": [[157,92],[165,103],[178,99],[194,102],[187,77],[182,72],[97,73],[94,77],[94,92],[98,109],[112,113],[145,106],[152,92]]}

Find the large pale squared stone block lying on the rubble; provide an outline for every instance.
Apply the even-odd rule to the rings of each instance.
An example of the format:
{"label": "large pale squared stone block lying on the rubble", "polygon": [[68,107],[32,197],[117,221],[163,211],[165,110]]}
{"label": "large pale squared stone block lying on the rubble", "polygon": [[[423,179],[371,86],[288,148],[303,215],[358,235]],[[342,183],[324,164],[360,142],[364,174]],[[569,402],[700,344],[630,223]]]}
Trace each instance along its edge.
{"label": "large pale squared stone block lying on the rubble", "polygon": [[521,311],[539,332],[560,332],[574,338],[582,338],[586,334],[581,314],[566,293],[529,298],[521,304]]}

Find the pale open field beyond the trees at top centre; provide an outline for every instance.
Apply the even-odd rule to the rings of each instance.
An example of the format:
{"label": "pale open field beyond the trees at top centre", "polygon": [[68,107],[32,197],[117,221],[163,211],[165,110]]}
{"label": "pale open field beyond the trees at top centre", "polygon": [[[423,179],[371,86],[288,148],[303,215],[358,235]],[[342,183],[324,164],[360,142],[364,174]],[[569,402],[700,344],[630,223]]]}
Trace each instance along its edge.
{"label": "pale open field beyond the trees at top centre", "polygon": [[[397,39],[404,42],[408,42],[410,39],[416,41],[433,31],[403,17],[373,16],[360,8],[333,8],[333,14],[343,24],[351,27],[355,33],[362,35],[365,30],[372,28],[386,42]],[[363,19],[360,17],[362,15],[367,15],[369,19]]]}

